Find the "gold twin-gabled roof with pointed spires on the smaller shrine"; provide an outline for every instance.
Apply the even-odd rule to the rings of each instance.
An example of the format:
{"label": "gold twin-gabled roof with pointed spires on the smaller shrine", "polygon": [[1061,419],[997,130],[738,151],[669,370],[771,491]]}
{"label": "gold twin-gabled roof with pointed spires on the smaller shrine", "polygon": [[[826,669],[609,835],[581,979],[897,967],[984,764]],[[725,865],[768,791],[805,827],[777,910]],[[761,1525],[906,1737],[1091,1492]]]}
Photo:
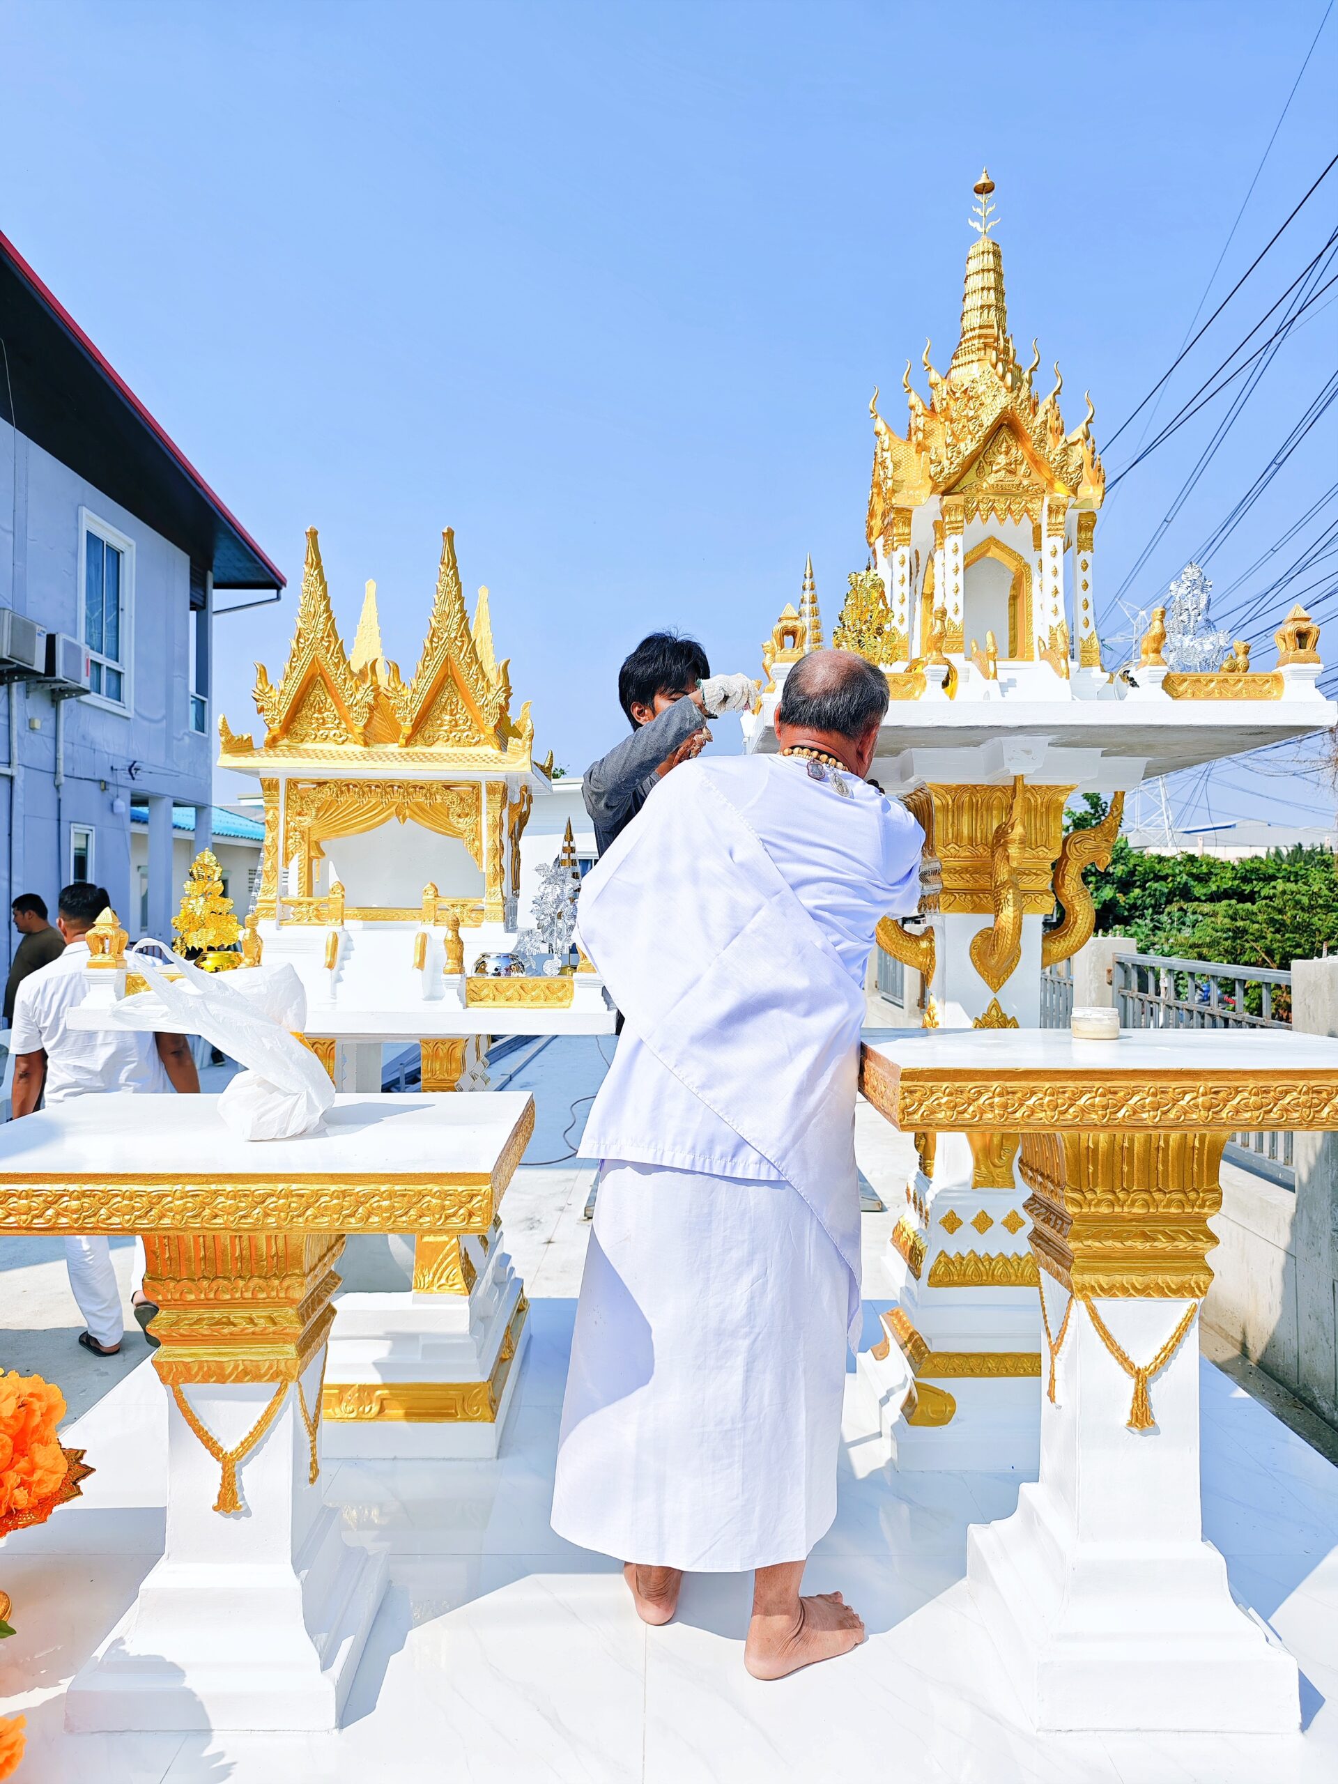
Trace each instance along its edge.
{"label": "gold twin-gabled roof with pointed spires on the smaller shrine", "polygon": [[507,664],[492,658],[487,599],[476,632],[469,626],[455,562],[455,535],[442,533],[437,594],[412,681],[382,657],[376,585],[368,583],[353,655],[344,651],[330,607],[316,528],[307,532],[307,564],[298,626],[287,667],[275,687],[257,664],[255,705],[266,723],[257,749],[219,719],[223,758],[260,767],[264,758],[294,764],[350,764],[373,751],[385,772],[419,764],[530,767],[530,706],[510,715]]}

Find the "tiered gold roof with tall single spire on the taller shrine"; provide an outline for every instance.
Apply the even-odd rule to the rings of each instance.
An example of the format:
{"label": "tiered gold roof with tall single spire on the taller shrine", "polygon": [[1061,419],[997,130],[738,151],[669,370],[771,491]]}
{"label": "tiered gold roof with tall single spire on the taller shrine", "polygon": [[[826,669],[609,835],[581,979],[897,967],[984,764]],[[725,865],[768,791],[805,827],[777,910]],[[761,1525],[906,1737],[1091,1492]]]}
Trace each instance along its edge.
{"label": "tiered gold roof with tall single spire on the taller shrine", "polygon": [[990,234],[995,219],[988,173],[974,191],[976,241],[967,253],[962,328],[947,375],[935,371],[926,341],[926,403],[912,387],[906,360],[903,385],[910,419],[904,439],[878,414],[878,391],[869,405],[874,421],[869,544],[890,526],[892,508],[917,508],[949,492],[967,498],[969,519],[976,514],[1038,517],[1040,498],[1056,491],[1085,508],[1099,508],[1106,492],[1106,473],[1092,441],[1092,400],[1081,426],[1065,434],[1060,368],[1054,368],[1054,389],[1040,401],[1031,385],[1040,364],[1035,341],[1031,364],[1019,366],[1008,334],[1003,253]]}

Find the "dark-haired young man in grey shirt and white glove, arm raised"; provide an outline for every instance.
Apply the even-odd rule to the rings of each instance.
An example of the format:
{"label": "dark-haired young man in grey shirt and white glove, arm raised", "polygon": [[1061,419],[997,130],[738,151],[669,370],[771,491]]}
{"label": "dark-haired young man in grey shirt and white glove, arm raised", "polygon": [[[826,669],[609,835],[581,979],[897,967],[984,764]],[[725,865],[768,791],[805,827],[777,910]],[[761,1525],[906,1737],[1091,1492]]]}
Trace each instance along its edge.
{"label": "dark-haired young man in grey shirt and white glove, arm raised", "polygon": [[582,794],[599,855],[640,812],[664,774],[710,742],[706,719],[746,712],[756,683],[746,674],[712,676],[696,639],[653,632],[617,673],[617,699],[632,737],[585,771]]}

